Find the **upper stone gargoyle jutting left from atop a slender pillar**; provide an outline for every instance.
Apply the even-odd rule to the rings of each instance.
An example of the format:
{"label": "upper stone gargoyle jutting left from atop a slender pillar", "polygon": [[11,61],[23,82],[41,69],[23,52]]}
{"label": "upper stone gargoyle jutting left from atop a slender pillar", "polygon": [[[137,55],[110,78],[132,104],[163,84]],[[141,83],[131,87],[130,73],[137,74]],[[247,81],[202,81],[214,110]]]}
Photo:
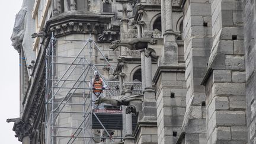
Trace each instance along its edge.
{"label": "upper stone gargoyle jutting left from atop a slender pillar", "polygon": [[158,40],[151,38],[130,38],[112,41],[109,48],[115,50],[119,46],[124,46],[130,50],[140,50],[148,48],[148,44],[154,45],[157,42]]}

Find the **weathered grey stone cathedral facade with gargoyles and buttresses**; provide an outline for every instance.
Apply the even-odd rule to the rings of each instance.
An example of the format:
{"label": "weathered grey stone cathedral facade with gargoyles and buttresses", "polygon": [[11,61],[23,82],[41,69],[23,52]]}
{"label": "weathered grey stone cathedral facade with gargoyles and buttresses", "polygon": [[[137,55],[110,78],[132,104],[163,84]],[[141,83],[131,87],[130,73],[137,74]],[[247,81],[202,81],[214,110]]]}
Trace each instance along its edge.
{"label": "weathered grey stone cathedral facade with gargoyles and buttresses", "polygon": [[[248,0],[23,0],[11,37],[20,55],[20,117],[7,122],[14,122],[23,144],[256,143],[255,20],[255,1]],[[53,81],[62,79],[68,66],[51,69],[50,81],[47,53],[77,58],[82,47],[77,40],[85,39],[95,46],[84,56],[114,91],[105,103],[118,101],[115,106],[123,110],[122,129],[111,133],[119,139],[104,139],[104,130],[89,128],[81,128],[89,136],[76,135],[68,127],[82,121],[75,114],[49,118],[48,82],[62,87]],[[55,63],[64,61],[76,62]],[[52,98],[75,103],[88,93],[68,91],[72,97],[66,100],[64,92]]]}

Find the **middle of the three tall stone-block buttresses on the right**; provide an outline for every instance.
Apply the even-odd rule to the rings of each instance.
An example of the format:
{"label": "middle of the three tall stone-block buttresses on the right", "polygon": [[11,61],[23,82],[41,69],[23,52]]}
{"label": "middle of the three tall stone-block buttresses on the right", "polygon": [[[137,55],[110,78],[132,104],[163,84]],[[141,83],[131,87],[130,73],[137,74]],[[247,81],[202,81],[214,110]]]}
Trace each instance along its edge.
{"label": "middle of the three tall stone-block buttresses on the right", "polygon": [[186,113],[182,131],[185,143],[206,143],[206,96],[201,84],[212,47],[212,15],[209,1],[184,5],[184,57],[187,82]]}

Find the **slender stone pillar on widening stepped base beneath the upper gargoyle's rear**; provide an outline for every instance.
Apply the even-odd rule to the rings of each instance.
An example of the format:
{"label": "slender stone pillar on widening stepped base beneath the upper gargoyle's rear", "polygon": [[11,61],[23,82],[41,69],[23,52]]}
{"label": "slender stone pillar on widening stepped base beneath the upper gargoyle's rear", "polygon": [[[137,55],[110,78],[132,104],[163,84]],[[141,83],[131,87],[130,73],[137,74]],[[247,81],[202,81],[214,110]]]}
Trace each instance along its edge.
{"label": "slender stone pillar on widening stepped base beneath the upper gargoyle's rear", "polygon": [[[143,62],[142,62],[143,63]],[[157,123],[156,123],[156,101],[155,91],[152,88],[151,57],[145,57],[145,90],[143,91],[143,103],[141,119],[138,121],[136,143],[157,143]],[[143,71],[143,70],[142,70]]]}

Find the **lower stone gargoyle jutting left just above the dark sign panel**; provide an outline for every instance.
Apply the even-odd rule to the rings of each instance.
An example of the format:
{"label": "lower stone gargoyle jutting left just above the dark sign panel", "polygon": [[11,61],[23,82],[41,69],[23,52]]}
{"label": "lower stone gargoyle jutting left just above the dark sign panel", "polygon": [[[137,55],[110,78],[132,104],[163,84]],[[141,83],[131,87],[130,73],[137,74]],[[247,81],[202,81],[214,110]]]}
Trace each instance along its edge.
{"label": "lower stone gargoyle jutting left just above the dark sign panel", "polygon": [[142,101],[142,98],[140,98],[142,96],[143,95],[130,95],[129,97],[126,97],[124,95],[121,98],[99,97],[95,100],[94,104],[99,105],[101,103],[105,103],[105,104],[111,104],[113,106],[125,105],[125,106],[127,106],[126,114],[130,114],[130,113],[136,114],[137,113],[136,107],[135,107],[135,105],[130,104],[130,102],[133,100]]}

